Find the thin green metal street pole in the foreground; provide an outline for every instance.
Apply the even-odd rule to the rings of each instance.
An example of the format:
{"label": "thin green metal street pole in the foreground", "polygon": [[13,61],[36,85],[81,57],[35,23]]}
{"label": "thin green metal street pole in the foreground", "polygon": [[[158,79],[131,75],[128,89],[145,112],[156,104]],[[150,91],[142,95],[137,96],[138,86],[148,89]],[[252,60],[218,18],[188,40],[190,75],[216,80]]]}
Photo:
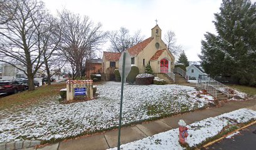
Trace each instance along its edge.
{"label": "thin green metal street pole in the foreground", "polygon": [[120,150],[120,134],[121,134],[121,123],[122,123],[122,98],[124,91],[124,69],[125,69],[125,53],[123,56],[123,64],[122,64],[122,86],[121,86],[121,98],[120,98],[120,114],[119,114],[119,128],[118,128],[118,143],[117,150]]}

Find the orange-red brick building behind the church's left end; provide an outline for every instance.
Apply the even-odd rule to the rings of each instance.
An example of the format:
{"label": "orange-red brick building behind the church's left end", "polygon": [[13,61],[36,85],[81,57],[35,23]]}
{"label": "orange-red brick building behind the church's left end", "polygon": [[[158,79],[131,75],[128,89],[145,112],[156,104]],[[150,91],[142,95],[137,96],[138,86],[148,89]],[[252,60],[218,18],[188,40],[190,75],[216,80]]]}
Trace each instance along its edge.
{"label": "orange-red brick building behind the church's left end", "polygon": [[90,78],[91,74],[102,73],[102,59],[87,59],[85,61],[85,74],[87,78]]}

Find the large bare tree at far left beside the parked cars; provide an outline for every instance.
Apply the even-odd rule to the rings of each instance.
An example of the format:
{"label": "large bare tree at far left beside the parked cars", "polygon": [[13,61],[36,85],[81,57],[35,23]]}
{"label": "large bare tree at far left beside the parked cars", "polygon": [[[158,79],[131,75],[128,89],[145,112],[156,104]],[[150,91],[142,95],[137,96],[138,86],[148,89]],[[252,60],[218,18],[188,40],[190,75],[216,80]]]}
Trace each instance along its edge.
{"label": "large bare tree at far left beside the parked cars", "polygon": [[[5,13],[12,19],[0,24],[0,61],[16,67],[16,63],[26,68],[18,68],[28,76],[29,90],[34,90],[33,78],[41,67],[40,27],[45,24],[45,6],[42,2],[32,0],[9,0],[4,7]],[[1,17],[3,19],[3,17]],[[17,68],[17,67],[16,67]]]}

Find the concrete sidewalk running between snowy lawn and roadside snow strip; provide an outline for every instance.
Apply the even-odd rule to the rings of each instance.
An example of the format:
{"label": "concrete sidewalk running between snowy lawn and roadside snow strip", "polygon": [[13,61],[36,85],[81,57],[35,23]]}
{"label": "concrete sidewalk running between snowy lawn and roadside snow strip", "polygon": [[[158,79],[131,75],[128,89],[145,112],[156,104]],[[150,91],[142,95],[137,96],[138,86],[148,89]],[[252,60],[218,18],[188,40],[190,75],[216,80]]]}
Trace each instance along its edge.
{"label": "concrete sidewalk running between snowy lawn and roadside snow strip", "polygon": [[[223,103],[223,106],[219,108],[213,107],[201,111],[194,111],[191,113],[151,121],[149,123],[137,124],[127,128],[122,128],[120,142],[121,144],[130,143],[132,141],[137,141],[139,139],[146,138],[147,136],[152,136],[157,133],[162,133],[170,129],[178,128],[179,119],[183,119],[186,122],[186,124],[191,124],[196,121],[201,121],[206,118],[215,117],[223,113],[229,113],[240,108],[248,108],[256,111],[256,99],[251,99],[248,101],[228,101],[227,103]],[[60,143],[40,148],[40,150],[92,150],[114,148],[117,146],[117,136],[118,130],[116,129],[114,131],[92,135],[87,138],[61,141]]]}

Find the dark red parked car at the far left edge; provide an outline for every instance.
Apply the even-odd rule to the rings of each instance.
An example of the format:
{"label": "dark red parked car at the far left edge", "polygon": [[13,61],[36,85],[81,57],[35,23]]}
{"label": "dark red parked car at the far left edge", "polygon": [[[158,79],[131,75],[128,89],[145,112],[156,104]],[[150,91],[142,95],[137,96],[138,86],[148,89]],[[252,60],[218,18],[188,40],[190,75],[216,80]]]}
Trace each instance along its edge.
{"label": "dark red parked car at the far left edge", "polygon": [[0,93],[18,93],[19,91],[25,91],[26,86],[18,81],[1,81]]}

